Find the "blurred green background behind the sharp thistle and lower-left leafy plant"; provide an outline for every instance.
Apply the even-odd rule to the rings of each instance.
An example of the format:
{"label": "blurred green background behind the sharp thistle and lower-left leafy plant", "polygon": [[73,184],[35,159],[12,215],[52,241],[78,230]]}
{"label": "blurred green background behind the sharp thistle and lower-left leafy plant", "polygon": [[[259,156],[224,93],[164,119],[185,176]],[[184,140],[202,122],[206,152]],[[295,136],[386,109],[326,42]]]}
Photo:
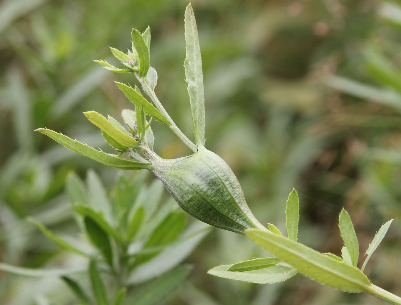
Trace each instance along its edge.
{"label": "blurred green background behind the sharp thistle and lower-left leafy plant", "polygon": [[[108,46],[130,47],[131,27],[152,29],[156,93],[191,135],[182,67],[187,4],[0,4],[2,262],[46,267],[60,259],[57,247],[24,218],[36,216],[58,232],[72,230],[64,193],[70,170],[85,178],[93,168],[103,184],[113,186],[118,170],[32,130],[47,127],[111,152],[81,112],[119,118],[122,109],[132,108],[113,80],[134,84],[134,78],[92,61],[116,63]],[[354,221],[361,257],[381,224],[395,218],[366,271],[376,285],[400,295],[401,6],[378,0],[194,0],[192,6],[203,56],[206,146],[231,166],[255,216],[283,228],[286,198],[295,187],[301,205],[299,240],[340,254],[337,223],[344,206]],[[154,133],[155,151],[162,157],[189,154],[161,124],[154,124]],[[160,304],[383,304],[301,275],[256,285],[206,273],[263,253],[244,236],[214,229],[186,260],[194,265],[189,280]],[[0,273],[0,303],[31,304],[49,281]],[[18,299],[21,289],[31,299]]]}

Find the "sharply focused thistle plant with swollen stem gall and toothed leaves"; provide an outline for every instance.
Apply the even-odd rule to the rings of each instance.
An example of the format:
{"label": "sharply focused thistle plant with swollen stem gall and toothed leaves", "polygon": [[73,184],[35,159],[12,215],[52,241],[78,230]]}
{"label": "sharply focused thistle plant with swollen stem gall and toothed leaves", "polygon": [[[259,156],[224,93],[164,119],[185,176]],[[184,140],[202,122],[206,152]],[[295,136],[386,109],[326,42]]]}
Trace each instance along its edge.
{"label": "sharply focused thistle plant with swollen stem gall and toothed leaves", "polygon": [[[340,231],[344,240],[342,257],[322,254],[299,243],[298,194],[293,190],[287,201],[286,226],[288,237],[277,227],[261,225],[247,206],[241,186],[231,168],[212,151],[205,148],[205,107],[201,51],[196,22],[191,5],[185,12],[186,59],[184,61],[192,125],[193,143],[168,115],[154,91],[156,70],[150,66],[150,28],[141,33],[132,29],[132,49],[128,53],[111,48],[121,62],[117,68],[106,61],[95,62],[115,73],[134,75],[140,87],[116,82],[117,87],[135,105],[135,111],[122,111],[125,129],[112,117],[103,117],[95,111],[85,115],[101,129],[103,137],[117,154],[106,154],[61,133],[37,129],[65,147],[101,162],[124,170],[146,169],[160,179],[183,210],[195,218],[225,230],[246,234],[262,248],[275,255],[253,259],[234,265],[223,265],[209,273],[230,279],[253,283],[277,283],[296,273],[302,273],[320,283],[350,293],[369,293],[389,303],[401,305],[401,298],[373,285],[363,273],[367,261],[383,239],[391,223],[379,230],[367,250],[362,270],[357,268],[359,246],[348,213],[340,214]],[[142,92],[150,99],[149,102]],[[174,160],[165,160],[153,150],[154,136],[151,123],[158,121],[173,131],[193,154]],[[122,158],[126,156],[126,158]]]}

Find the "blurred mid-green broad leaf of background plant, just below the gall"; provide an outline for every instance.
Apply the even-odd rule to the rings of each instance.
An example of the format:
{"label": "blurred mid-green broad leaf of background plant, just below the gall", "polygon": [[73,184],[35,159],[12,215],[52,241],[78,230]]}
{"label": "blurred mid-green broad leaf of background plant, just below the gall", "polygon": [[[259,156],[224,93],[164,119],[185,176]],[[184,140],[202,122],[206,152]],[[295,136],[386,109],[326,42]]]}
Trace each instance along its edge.
{"label": "blurred mid-green broad leaf of background plant, just below the gall", "polygon": [[[166,218],[153,230],[144,249],[163,246],[173,242],[184,230],[186,214],[182,210],[176,210],[167,215]],[[143,264],[155,257],[160,250],[150,251],[146,254],[136,256],[134,267]]]}

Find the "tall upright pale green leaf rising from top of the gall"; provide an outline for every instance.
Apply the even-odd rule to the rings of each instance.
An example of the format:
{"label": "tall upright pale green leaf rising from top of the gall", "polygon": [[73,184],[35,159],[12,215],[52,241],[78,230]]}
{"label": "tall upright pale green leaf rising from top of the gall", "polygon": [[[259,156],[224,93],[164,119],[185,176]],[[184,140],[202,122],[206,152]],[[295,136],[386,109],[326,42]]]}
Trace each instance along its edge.
{"label": "tall upright pale green leaf rising from top of the gall", "polygon": [[197,145],[205,145],[205,95],[203,92],[203,74],[201,48],[198,29],[191,4],[185,10],[186,59],[184,61],[188,95],[191,104],[192,124]]}

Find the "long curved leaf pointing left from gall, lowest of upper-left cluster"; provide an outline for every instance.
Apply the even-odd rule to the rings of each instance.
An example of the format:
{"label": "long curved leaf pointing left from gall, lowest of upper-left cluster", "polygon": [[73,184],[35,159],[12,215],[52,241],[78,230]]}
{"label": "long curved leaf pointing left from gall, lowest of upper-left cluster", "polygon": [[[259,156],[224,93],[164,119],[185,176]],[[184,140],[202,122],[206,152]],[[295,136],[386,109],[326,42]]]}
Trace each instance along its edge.
{"label": "long curved leaf pointing left from gall, lowest of upper-left cluster", "polygon": [[90,147],[86,144],[73,140],[67,137],[66,135],[63,135],[50,129],[40,128],[36,129],[36,131],[39,131],[47,135],[48,137],[51,137],[53,140],[59,142],[64,147],[67,147],[68,149],[75,151],[76,153],[82,156],[91,158],[107,166],[112,166],[115,168],[119,168],[121,170],[141,170],[142,168],[149,168],[149,166],[151,165],[150,163],[142,163],[142,162],[126,160],[118,158],[117,156],[111,154],[106,154],[101,150],[96,150],[93,147]]}

